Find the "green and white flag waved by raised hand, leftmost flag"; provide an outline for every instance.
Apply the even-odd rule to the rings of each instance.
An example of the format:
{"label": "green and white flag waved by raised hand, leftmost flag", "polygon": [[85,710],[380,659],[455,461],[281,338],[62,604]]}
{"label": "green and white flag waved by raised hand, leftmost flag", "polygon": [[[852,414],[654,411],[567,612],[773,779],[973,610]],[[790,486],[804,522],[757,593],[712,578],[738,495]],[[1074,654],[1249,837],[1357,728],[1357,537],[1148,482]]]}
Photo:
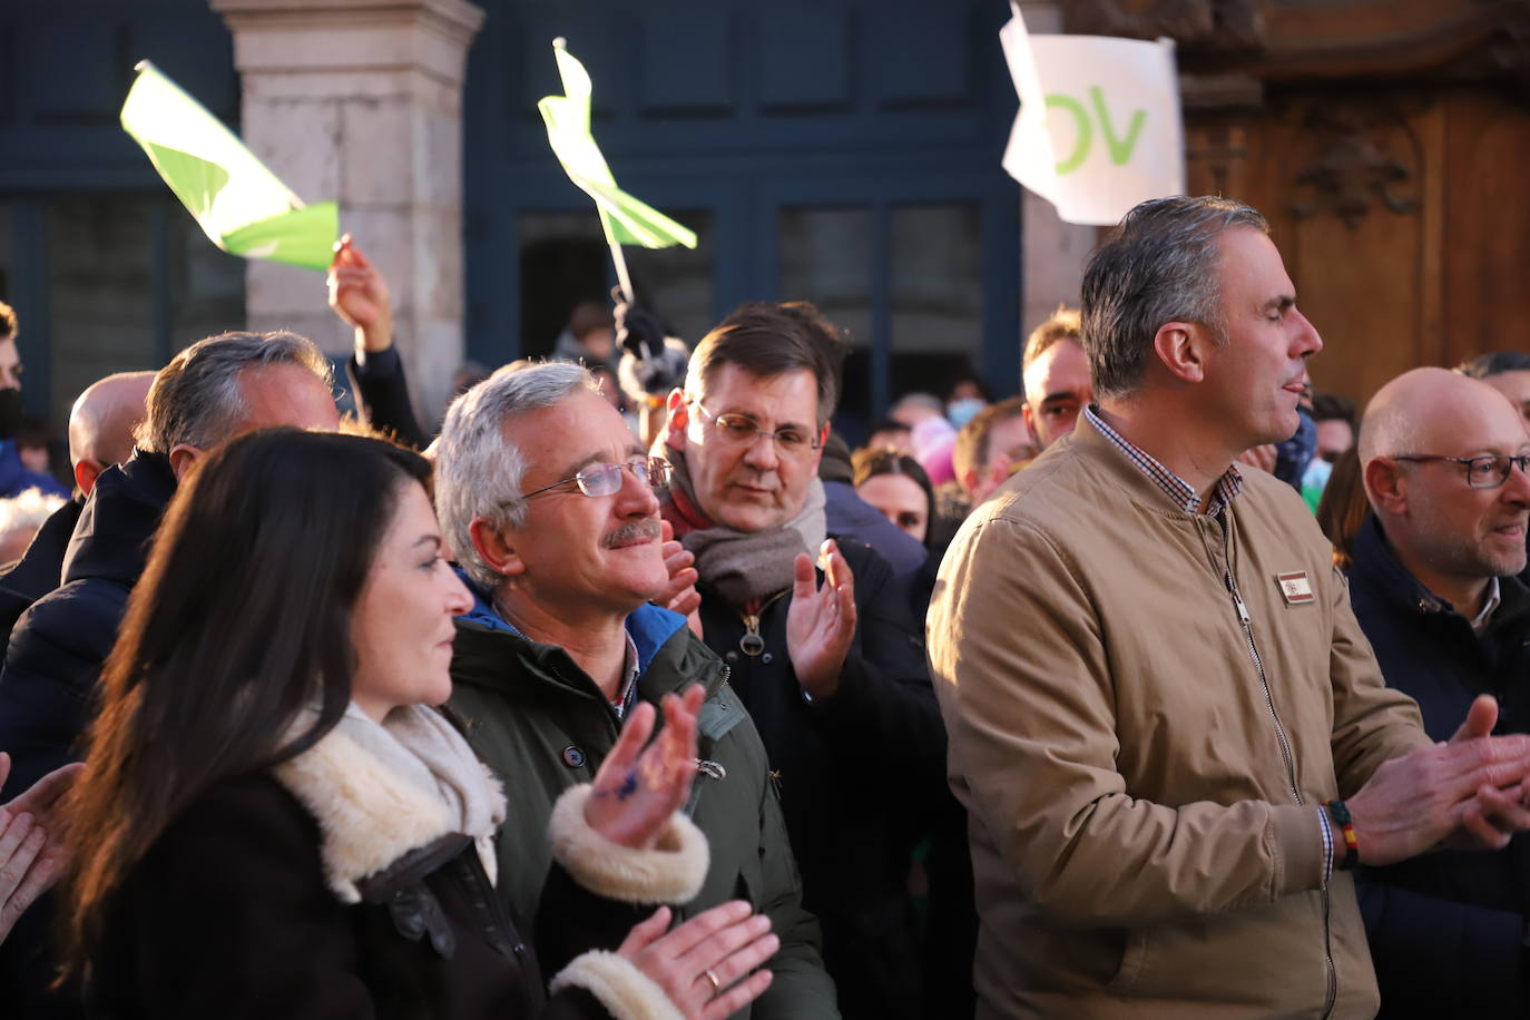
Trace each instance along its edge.
{"label": "green and white flag waved by raised hand, leftmost flag", "polygon": [[151,63],[122,102],[122,130],[208,239],[245,258],[327,269],[340,236],[334,202],[303,205],[222,121]]}

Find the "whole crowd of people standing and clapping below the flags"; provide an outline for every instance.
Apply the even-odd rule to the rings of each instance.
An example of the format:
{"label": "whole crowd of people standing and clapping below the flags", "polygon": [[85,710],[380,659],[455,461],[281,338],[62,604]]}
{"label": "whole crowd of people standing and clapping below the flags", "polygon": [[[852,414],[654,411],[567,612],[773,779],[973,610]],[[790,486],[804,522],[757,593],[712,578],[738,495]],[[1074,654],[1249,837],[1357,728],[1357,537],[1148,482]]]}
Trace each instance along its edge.
{"label": "whole crowd of people standing and clapping below the flags", "polygon": [[330,306],[360,416],[210,336],[41,505],[3,318],[5,1015],[1530,1009],[1530,356],[1313,393],[1209,197],[854,451],[806,303],[581,306],[439,428],[349,237]]}

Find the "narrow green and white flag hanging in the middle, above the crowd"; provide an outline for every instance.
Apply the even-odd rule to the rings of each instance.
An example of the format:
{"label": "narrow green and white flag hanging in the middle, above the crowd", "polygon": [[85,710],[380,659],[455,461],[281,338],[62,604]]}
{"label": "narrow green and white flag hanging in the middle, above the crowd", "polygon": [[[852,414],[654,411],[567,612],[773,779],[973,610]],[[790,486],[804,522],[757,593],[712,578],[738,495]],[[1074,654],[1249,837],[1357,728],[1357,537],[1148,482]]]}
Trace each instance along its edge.
{"label": "narrow green and white flag hanging in the middle, above the crowd", "polygon": [[584,64],[574,60],[562,38],[552,40],[552,55],[558,61],[558,76],[563,78],[563,95],[546,96],[537,102],[542,119],[548,124],[548,141],[552,153],[563,164],[569,180],[595,200],[600,225],[612,245],[643,245],[644,248],[669,248],[670,245],[696,246],[695,231],[687,229],[658,210],[617,187],[606,158],[600,154],[595,138],[589,133],[589,95],[592,90]]}

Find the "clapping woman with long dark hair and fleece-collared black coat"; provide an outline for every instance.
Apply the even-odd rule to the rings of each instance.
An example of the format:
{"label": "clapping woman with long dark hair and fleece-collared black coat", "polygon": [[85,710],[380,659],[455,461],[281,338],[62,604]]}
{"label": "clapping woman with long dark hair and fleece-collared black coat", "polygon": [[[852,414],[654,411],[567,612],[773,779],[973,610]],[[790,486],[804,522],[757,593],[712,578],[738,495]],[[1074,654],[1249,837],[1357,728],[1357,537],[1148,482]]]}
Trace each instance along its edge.
{"label": "clapping woman with long dark hair and fleece-collared black coat", "polygon": [[428,708],[451,690],[451,619],[471,604],[428,479],[382,440],[272,430],[181,486],[69,809],[69,973],[92,1008],[721,1020],[770,983],[754,968],[776,939],[747,904],[667,934],[659,908],[623,937],[630,904],[684,902],[705,876],[705,841],[676,810],[690,691],[646,749],[655,713],[635,710],[595,783],[554,812],[549,937],[620,948],[578,956],[549,996],[493,892],[505,797]]}

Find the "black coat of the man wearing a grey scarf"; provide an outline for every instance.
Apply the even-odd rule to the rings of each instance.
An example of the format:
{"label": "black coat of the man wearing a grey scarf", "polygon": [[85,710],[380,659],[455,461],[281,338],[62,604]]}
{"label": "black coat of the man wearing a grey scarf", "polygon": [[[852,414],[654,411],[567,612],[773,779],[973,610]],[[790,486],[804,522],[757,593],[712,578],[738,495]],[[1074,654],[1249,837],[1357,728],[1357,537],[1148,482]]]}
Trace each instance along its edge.
{"label": "black coat of the man wearing a grey scarf", "polygon": [[[730,665],[730,682],[765,742],[802,867],[803,907],[823,924],[840,1011],[848,1018],[913,1017],[923,1008],[924,966],[909,856],[941,820],[952,820],[946,729],[924,664],[924,630],[910,619],[890,567],[866,546],[845,541],[840,551],[855,575],[858,624],[834,697],[808,703],[802,696],[786,651],[791,589],[762,610],[757,656],[739,644],[742,615],[705,584],[698,586],[702,630]],[[970,904],[970,867],[965,896]],[[965,959],[962,988],[970,994],[970,951]]]}

